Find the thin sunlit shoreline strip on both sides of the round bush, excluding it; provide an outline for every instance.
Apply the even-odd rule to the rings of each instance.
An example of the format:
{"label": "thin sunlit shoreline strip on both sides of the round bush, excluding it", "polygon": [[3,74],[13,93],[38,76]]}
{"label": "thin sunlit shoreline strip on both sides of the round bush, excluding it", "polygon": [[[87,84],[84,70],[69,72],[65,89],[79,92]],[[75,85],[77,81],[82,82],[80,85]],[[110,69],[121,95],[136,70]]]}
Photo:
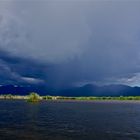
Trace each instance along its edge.
{"label": "thin sunlit shoreline strip on both sides of the round bush, excluding it", "polygon": [[[30,95],[0,95],[0,100],[28,100]],[[39,101],[140,101],[140,96],[81,96],[81,97],[66,97],[66,96],[40,96]]]}

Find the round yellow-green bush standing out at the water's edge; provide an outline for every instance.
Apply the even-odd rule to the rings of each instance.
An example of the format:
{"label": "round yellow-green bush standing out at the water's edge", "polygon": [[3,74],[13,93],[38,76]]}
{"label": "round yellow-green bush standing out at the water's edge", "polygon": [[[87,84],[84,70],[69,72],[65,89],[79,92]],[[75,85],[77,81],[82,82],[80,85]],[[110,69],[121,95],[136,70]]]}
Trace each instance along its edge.
{"label": "round yellow-green bush standing out at the water's edge", "polygon": [[30,93],[27,99],[28,102],[39,102],[40,96],[37,93]]}

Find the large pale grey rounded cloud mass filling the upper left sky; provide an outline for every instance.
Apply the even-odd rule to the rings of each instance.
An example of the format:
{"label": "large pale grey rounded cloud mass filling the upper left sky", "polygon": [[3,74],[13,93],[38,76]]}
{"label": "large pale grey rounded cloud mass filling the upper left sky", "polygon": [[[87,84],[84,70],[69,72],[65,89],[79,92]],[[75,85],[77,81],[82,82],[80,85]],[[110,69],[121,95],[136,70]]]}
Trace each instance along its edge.
{"label": "large pale grey rounded cloud mass filling the upper left sky", "polygon": [[[14,23],[7,20],[8,25],[4,25],[11,26],[8,35],[12,34],[13,39],[8,35],[5,39],[10,53],[22,52],[22,57],[53,63],[71,60],[83,53],[90,30],[75,3],[22,1],[13,2],[11,7]],[[18,38],[13,35],[15,30]]]}

